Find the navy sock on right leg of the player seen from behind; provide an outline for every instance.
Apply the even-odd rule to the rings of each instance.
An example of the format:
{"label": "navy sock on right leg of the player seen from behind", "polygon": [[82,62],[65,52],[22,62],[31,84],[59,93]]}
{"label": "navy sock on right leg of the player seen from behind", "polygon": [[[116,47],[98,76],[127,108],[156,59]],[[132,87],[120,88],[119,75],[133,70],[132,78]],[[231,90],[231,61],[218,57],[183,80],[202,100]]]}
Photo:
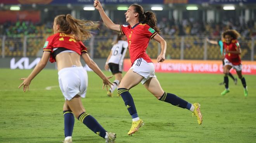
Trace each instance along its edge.
{"label": "navy sock on right leg of the player seen from behind", "polygon": [[78,119],[94,133],[101,136],[102,138],[105,138],[106,130],[102,126],[100,126],[98,121],[95,118],[93,118],[93,116],[84,112],[78,116]]}

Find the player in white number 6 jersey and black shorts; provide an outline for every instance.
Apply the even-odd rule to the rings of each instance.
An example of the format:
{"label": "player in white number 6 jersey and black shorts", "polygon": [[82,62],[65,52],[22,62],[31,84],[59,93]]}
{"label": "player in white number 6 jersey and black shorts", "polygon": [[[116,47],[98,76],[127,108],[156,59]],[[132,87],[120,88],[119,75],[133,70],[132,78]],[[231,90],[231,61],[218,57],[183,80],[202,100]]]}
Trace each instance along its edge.
{"label": "player in white number 6 jersey and black shorts", "polygon": [[[128,48],[128,43],[126,40],[126,36],[119,33],[116,40],[113,42],[113,47],[109,53],[109,56],[107,57],[105,69],[110,69],[112,74],[115,76],[115,80],[113,81],[111,89],[107,91],[107,96],[109,97],[112,97],[112,93],[119,86],[119,83],[122,79],[122,66],[125,58],[125,53]],[[120,94],[118,94],[118,96],[120,96]]]}

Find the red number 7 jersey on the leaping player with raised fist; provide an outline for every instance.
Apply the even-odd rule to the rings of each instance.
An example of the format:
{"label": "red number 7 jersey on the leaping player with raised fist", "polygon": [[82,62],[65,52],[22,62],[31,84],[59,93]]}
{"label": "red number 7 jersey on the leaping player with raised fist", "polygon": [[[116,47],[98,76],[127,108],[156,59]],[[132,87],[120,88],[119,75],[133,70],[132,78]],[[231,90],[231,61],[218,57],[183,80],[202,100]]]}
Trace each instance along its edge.
{"label": "red number 7 jersey on the leaping player with raised fist", "polygon": [[152,39],[157,33],[147,24],[120,25],[120,30],[123,35],[126,35],[129,44],[129,52],[131,64],[138,59],[143,58],[147,62],[152,62],[146,53],[149,40]]}

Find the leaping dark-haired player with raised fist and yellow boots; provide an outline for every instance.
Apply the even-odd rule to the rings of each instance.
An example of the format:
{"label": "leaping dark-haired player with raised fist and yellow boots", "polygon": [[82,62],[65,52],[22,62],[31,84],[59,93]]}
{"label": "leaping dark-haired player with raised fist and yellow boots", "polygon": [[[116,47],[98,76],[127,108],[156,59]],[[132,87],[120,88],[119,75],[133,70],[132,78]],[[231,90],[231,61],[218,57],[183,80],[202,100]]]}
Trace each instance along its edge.
{"label": "leaping dark-haired player with raised fist and yellow boots", "polygon": [[126,22],[130,25],[118,25],[114,24],[107,17],[98,0],[95,0],[93,5],[99,10],[100,16],[106,26],[109,29],[119,31],[123,35],[126,35],[129,44],[128,48],[132,67],[125,74],[118,88],[118,93],[123,98],[133,121],[128,135],[135,133],[143,124],[142,119],[138,117],[133,98],[129,93],[129,90],[140,82],[160,101],[165,101],[192,111],[196,115],[198,123],[201,124],[202,114],[199,104],[190,104],[175,94],[164,92],[156,78],[154,64],[146,53],[147,45],[150,39],[154,39],[161,44],[162,51],[157,57],[157,62],[163,62],[165,60],[166,41],[159,35],[160,30],[156,26],[155,14],[153,12],[144,12],[140,5],[134,4],[125,13]]}

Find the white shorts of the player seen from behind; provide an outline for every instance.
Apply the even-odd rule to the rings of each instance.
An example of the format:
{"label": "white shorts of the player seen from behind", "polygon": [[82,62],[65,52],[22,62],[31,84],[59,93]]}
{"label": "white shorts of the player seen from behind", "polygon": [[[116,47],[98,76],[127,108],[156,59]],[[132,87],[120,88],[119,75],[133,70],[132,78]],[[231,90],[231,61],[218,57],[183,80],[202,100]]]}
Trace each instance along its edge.
{"label": "white shorts of the player seen from behind", "polygon": [[59,86],[65,100],[71,100],[76,94],[85,98],[88,76],[83,67],[67,67],[58,72]]}

